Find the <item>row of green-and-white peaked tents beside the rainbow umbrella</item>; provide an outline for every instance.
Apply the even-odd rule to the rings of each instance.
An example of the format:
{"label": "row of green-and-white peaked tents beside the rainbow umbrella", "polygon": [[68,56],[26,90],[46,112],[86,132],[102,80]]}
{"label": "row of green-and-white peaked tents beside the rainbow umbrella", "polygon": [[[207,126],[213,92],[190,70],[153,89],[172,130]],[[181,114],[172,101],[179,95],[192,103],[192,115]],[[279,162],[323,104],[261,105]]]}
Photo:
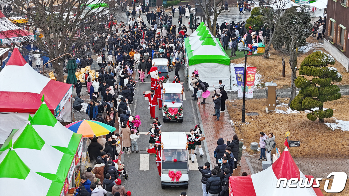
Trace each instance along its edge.
{"label": "row of green-and-white peaked tents beside the rainbow umbrella", "polygon": [[82,135],[61,125],[45,102],[0,149],[0,195],[64,195],[82,152]]}

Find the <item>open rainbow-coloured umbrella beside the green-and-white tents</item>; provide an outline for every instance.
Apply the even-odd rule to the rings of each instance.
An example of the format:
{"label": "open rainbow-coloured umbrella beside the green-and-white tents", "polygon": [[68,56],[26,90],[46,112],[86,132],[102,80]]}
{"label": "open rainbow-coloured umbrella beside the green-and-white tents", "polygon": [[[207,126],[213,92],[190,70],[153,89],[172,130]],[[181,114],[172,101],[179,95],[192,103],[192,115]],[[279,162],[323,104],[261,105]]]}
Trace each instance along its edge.
{"label": "open rainbow-coloured umbrella beside the green-and-white tents", "polygon": [[82,134],[84,138],[92,138],[94,135],[106,135],[115,131],[115,127],[96,120],[79,120],[66,125],[69,130]]}

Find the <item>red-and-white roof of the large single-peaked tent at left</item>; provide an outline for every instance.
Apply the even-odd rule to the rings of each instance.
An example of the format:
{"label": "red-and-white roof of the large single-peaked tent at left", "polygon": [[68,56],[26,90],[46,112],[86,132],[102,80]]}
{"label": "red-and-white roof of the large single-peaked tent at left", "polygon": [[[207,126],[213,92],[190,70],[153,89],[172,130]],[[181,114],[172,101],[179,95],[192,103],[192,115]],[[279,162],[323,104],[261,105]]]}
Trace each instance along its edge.
{"label": "red-and-white roof of the large single-peaked tent at left", "polygon": [[[24,81],[16,73],[25,73]],[[35,113],[43,94],[47,107],[53,113],[72,87],[71,84],[51,80],[35,71],[17,47],[0,72],[0,84],[0,112],[18,113]]]}

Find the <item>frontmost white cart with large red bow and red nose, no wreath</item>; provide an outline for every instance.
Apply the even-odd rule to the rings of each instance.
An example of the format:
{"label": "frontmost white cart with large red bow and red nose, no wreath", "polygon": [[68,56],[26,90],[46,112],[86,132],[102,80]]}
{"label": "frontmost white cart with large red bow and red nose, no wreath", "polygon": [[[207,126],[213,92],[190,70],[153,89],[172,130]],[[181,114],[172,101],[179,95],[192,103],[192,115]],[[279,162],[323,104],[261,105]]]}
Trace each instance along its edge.
{"label": "frontmost white cart with large red bow and red nose, no wreath", "polygon": [[[189,184],[189,166],[187,135],[184,132],[163,132],[161,134],[162,148],[162,174],[161,188],[165,187],[184,187],[188,188]],[[179,179],[173,180],[169,177],[181,173]]]}

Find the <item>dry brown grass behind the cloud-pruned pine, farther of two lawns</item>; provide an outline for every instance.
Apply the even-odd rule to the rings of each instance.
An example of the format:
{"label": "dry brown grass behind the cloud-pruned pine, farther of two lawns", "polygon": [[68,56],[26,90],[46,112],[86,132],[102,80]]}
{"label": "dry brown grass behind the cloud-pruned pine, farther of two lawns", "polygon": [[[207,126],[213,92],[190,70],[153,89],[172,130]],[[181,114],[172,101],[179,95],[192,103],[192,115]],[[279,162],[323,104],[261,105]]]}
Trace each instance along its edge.
{"label": "dry brown grass behind the cloud-pruned pine, farther of two lawns", "polygon": [[[316,43],[317,40],[313,38],[308,38],[307,42]],[[322,50],[326,52],[324,48],[314,48],[309,52],[302,54],[298,57],[298,66],[300,67],[300,63],[302,63],[303,59],[309,54],[313,53],[314,50]],[[277,88],[289,88],[291,87],[291,69],[288,63],[288,60],[285,58],[285,77],[282,77],[282,57],[280,54],[273,49],[270,48],[270,57],[268,59],[264,59],[263,56],[251,56],[247,57],[247,64],[257,68],[257,72],[262,75],[262,82],[270,82],[273,81],[277,84]],[[327,52],[326,52],[327,53]],[[244,63],[245,58],[238,58],[231,61],[231,63]],[[349,84],[349,73],[346,71],[344,66],[336,61],[334,65],[330,65],[338,69],[339,73],[343,75],[343,80],[339,83],[334,83],[336,85],[348,85]],[[298,76],[298,72],[297,72]],[[311,77],[310,77],[311,78]]]}

